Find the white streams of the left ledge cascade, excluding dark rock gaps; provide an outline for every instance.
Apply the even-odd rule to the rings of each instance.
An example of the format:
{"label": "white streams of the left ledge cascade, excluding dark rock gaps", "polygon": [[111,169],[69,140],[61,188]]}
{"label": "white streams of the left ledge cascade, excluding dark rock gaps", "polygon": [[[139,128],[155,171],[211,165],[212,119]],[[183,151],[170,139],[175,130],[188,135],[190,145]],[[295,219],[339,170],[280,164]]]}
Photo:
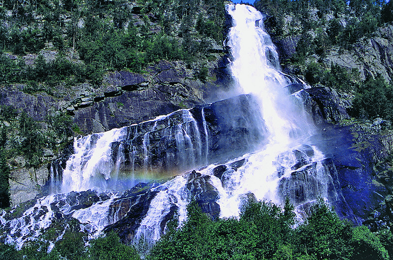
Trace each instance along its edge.
{"label": "white streams of the left ledge cascade, excluding dark rock gaps", "polygon": [[[170,116],[174,113],[181,115],[179,122],[172,122]],[[196,165],[206,163],[206,157],[202,156],[202,149],[208,150],[207,137],[205,144],[202,143],[201,133],[197,126],[197,121],[188,109],[180,109],[168,115],[159,116],[153,120],[145,121],[140,124],[148,124],[154,122],[152,127],[142,134],[141,147],[131,146],[129,152],[130,173],[129,176],[135,181],[135,161],[138,154],[143,156],[140,167],[143,168],[145,175],[153,171],[152,169],[152,153],[150,135],[156,131],[157,125],[164,124],[168,121],[167,127],[163,130],[165,135],[165,145],[170,145],[172,141],[176,144],[176,152],[167,154],[167,165],[177,167],[177,171],[186,171],[192,169]],[[203,123],[205,135],[207,133],[206,122]],[[149,126],[147,125],[147,128]],[[135,127],[134,138],[138,136],[138,126]],[[124,187],[118,183],[118,175],[121,166],[124,166],[125,147],[124,141],[127,141],[127,127],[121,129],[113,129],[107,132],[94,133],[74,139],[75,154],[70,156],[66,162],[66,168],[63,171],[63,179],[61,191],[64,193],[70,191],[83,191],[88,189],[99,190],[116,190],[117,186],[122,189],[131,188],[132,185]],[[133,141],[133,140],[131,140]],[[128,140],[129,143],[132,143]],[[116,157],[113,156],[112,146],[117,145]],[[51,172],[51,177],[53,172]],[[148,176],[146,176],[148,178]],[[55,178],[51,178],[53,185],[51,188],[55,190]],[[130,182],[136,184],[136,182]]]}

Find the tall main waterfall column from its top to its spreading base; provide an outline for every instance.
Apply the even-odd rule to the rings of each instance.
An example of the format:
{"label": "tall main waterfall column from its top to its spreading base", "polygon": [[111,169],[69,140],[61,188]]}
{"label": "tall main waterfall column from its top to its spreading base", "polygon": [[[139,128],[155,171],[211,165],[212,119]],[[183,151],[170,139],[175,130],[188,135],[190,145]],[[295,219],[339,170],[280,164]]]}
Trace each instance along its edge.
{"label": "tall main waterfall column from its top to its spreading base", "polygon": [[228,4],[226,11],[233,20],[226,45],[232,55],[235,87],[258,98],[269,138],[261,150],[243,156],[247,158],[243,166],[233,170],[229,162],[221,182],[213,179],[220,192],[220,216],[239,216],[249,194],[277,204],[287,196],[295,206],[327,197],[331,186],[327,183],[332,180],[322,167],[324,156],[309,143],[314,126],[299,105],[303,102],[295,102],[299,95],[289,95],[284,88],[291,82],[280,71],[277,51],[263,27],[263,15],[243,4]]}

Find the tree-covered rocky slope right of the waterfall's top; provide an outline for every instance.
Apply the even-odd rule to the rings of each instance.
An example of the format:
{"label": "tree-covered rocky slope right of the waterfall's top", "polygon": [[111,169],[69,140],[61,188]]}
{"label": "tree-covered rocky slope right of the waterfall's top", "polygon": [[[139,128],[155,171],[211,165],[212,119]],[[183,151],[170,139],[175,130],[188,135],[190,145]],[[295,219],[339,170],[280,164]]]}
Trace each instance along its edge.
{"label": "tree-covered rocky slope right of the waterfall's top", "polygon": [[[281,50],[284,71],[304,78],[313,86],[354,93],[353,116],[392,118],[392,82],[389,82],[392,75],[383,72],[383,66],[377,64],[370,66],[378,69],[368,68],[361,73],[358,64],[362,61],[348,59],[354,53],[359,59],[365,58],[359,54],[366,48],[365,42],[381,37],[378,31],[391,24],[392,1],[351,0],[348,4],[344,0],[257,0],[254,6],[267,14],[265,26],[279,47],[286,44],[283,47],[286,50]],[[380,48],[375,52],[386,52],[387,56],[383,55],[390,60],[389,47]],[[377,75],[375,71],[385,75]]]}

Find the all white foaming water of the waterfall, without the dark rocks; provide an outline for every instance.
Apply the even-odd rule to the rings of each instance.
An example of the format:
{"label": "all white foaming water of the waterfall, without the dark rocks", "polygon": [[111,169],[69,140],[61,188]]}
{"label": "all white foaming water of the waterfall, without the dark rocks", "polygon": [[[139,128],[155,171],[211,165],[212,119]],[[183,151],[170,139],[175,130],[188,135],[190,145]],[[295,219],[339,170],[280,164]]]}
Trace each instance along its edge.
{"label": "all white foaming water of the waterfall, without the dark rocks", "polygon": [[[292,173],[301,171],[307,172],[309,176],[304,178],[305,201],[299,202],[298,206],[302,207],[315,199],[315,196],[327,197],[328,184],[332,182],[332,178],[321,163],[324,156],[315,147],[309,148],[312,151],[311,154],[307,155],[305,152],[303,146],[309,145],[308,138],[313,133],[313,125],[309,123],[308,115],[302,106],[303,102],[294,102],[301,97],[296,93],[290,96],[283,88],[290,82],[280,72],[277,52],[269,35],[263,29],[262,15],[248,5],[227,5],[226,9],[234,22],[228,35],[227,45],[231,48],[233,55],[230,68],[237,82],[235,87],[238,92],[252,93],[258,98],[264,124],[269,131],[269,138],[268,143],[260,151],[226,163],[227,171],[223,174],[225,181],[211,177],[211,183],[220,195],[217,201],[221,208],[220,216],[239,216],[240,208],[247,200],[249,193],[253,193],[258,200],[267,199],[278,204],[282,203],[283,196],[288,195],[292,190],[292,187],[287,186],[290,182],[286,180],[291,178]],[[178,150],[176,155],[167,154],[167,165],[176,162],[182,169],[192,169],[195,165],[207,163],[209,140],[206,120],[202,109],[205,135],[203,149],[197,122],[189,110],[180,111],[182,122],[172,125],[168,120],[168,127],[164,129],[166,143],[169,144],[174,138]],[[155,121],[156,126],[158,120],[166,118],[167,116],[161,116],[152,121]],[[155,130],[155,126],[152,131]],[[148,169],[151,163],[150,132],[144,133],[143,136],[144,169]],[[123,139],[125,134],[124,128],[75,139],[75,154],[67,161],[63,172],[62,191],[94,188],[112,190],[113,184],[117,181],[120,164],[124,160],[124,154],[121,153],[124,147],[120,143],[117,157],[112,158],[111,145]],[[299,161],[295,155],[297,149],[299,153],[304,154],[305,162],[299,168],[294,168]],[[136,155],[137,148],[132,147],[130,156],[132,156],[133,174]],[[242,158],[245,158],[247,162],[237,170],[229,166],[231,162]],[[200,172],[212,175],[214,167],[215,165],[207,166]],[[314,168],[308,172],[311,167]],[[136,231],[134,242],[140,242],[143,238],[151,245],[159,239],[162,235],[161,221],[172,206],[178,208],[180,225],[185,221],[186,206],[191,200],[186,185],[186,176],[177,176],[154,188],[160,192],[151,201],[150,208]],[[279,192],[280,185],[282,189]],[[22,217],[11,220],[14,221],[11,229],[12,238],[8,236],[7,241],[22,245],[28,236],[37,237],[40,230],[48,228],[53,218],[53,212],[50,209],[50,203],[53,200],[54,195],[51,195],[37,202],[36,207],[49,208],[49,211],[40,216],[38,221],[33,220],[36,216],[33,212],[34,207],[28,209]],[[72,212],[70,208],[64,206],[61,212],[72,214],[73,217],[79,219],[82,229],[94,236],[99,234],[105,226],[117,220],[110,219],[108,216],[112,201],[113,198]],[[117,214],[114,215],[117,216]],[[27,219],[30,221],[26,221]],[[0,221],[2,224],[5,223],[1,216]],[[22,234],[21,238],[15,235],[17,233]]]}

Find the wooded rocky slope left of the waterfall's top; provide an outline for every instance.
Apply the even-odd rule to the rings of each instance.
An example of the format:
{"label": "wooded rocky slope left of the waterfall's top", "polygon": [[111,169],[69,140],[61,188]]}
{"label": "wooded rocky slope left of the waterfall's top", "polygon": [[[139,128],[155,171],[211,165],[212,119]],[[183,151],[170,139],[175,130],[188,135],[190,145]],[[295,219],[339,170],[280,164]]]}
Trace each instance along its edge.
{"label": "wooded rocky slope left of the waterfall's top", "polygon": [[5,0],[0,83],[99,84],[105,72],[142,72],[160,59],[199,70],[221,45],[224,11],[223,0]]}

